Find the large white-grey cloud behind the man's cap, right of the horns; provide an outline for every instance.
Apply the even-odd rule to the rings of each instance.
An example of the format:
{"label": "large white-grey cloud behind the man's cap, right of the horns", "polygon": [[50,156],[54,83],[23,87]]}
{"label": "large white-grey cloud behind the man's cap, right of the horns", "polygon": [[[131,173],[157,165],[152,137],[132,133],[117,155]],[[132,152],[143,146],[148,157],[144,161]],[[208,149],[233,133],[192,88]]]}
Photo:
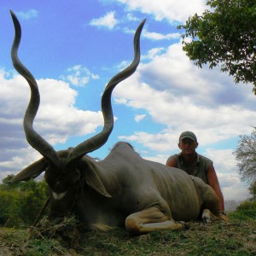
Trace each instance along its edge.
{"label": "large white-grey cloud behind the man's cap, right of the horns", "polygon": [[[253,106],[250,88],[235,87],[233,80],[218,70],[199,70],[186,58],[181,44],[141,64],[123,84],[125,91],[121,87],[114,91],[116,102],[144,109],[156,123],[166,125],[155,143],[151,142],[154,134],[137,132],[132,136],[152,149],[172,149],[179,133],[186,130],[199,134],[201,145],[238,137],[249,133],[256,119],[255,111],[243,104]],[[166,145],[166,137],[171,146]]]}

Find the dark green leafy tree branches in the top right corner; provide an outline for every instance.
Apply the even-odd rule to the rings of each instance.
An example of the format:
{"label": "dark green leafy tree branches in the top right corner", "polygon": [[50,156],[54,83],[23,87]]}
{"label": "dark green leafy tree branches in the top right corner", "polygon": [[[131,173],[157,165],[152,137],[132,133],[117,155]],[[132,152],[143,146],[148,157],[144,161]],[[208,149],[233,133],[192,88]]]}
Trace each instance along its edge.
{"label": "dark green leafy tree branches in the top right corner", "polygon": [[183,50],[197,67],[220,64],[236,83],[253,83],[256,95],[256,1],[209,0],[207,6],[178,26],[185,30]]}

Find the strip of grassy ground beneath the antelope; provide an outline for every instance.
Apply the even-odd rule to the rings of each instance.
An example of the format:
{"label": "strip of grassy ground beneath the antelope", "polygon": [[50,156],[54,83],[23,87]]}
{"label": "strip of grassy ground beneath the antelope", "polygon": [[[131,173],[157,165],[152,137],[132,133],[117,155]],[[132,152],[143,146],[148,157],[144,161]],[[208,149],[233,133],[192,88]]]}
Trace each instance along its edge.
{"label": "strip of grassy ground beneath the antelope", "polygon": [[[256,255],[255,218],[232,218],[230,223],[190,222],[189,230],[143,236],[130,236],[121,228],[81,235],[74,229],[73,219],[65,221],[47,228],[42,224],[41,230],[39,226],[30,232],[0,230],[0,255]],[[58,234],[63,238],[63,232],[65,239],[60,239]]]}

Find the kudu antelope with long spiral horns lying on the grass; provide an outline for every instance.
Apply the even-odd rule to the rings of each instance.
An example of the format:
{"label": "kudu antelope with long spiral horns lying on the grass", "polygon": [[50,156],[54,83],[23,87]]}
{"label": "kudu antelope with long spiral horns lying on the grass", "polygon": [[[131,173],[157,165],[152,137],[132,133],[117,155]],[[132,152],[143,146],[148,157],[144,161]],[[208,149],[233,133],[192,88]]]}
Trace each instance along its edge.
{"label": "kudu antelope with long spiral horns lying on the grass", "polygon": [[19,172],[14,182],[45,172],[50,193],[49,215],[60,217],[74,212],[88,229],[125,226],[131,234],[139,235],[153,230],[183,229],[184,222],[201,215],[210,218],[210,211],[219,216],[218,198],[210,186],[176,168],[144,160],[129,143],[115,144],[104,160],[96,161],[87,155],[102,147],[113,130],[111,93],[139,64],[140,33],[145,20],[134,36],[131,65],[109,81],[102,95],[102,131],[75,148],[56,152],[33,130],[39,107],[38,85],[18,58],[21,29],[19,20],[13,13],[11,15],[15,25],[12,61],[31,88],[24,117],[26,140],[43,155]]}

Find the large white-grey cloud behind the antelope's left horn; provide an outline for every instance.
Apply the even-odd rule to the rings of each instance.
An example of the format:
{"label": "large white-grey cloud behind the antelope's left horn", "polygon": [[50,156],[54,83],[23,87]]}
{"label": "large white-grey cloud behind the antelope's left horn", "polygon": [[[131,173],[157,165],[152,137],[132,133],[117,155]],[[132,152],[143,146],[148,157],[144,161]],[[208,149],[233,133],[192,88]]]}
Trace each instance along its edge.
{"label": "large white-grey cloud behind the antelope's left horn", "polygon": [[[2,71],[0,84],[0,161],[1,172],[8,173],[38,159],[39,154],[26,143],[22,128],[30,95],[26,80],[20,75],[5,79]],[[90,134],[102,125],[102,112],[74,107],[77,92],[66,82],[40,79],[38,87],[41,103],[34,129],[50,144],[65,143],[68,137]]]}

